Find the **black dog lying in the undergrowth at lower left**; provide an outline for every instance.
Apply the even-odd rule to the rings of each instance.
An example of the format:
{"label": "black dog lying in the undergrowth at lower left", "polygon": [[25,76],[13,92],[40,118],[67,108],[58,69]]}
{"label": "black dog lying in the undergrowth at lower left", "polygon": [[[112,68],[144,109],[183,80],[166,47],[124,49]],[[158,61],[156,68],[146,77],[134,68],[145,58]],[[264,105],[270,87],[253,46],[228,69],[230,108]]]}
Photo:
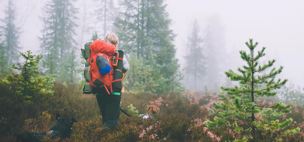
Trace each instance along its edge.
{"label": "black dog lying in the undergrowth at lower left", "polygon": [[22,132],[16,138],[16,142],[40,142],[47,134],[51,135],[52,140],[60,137],[61,140],[71,137],[73,132],[73,124],[77,122],[76,119],[65,119],[60,117],[60,114],[56,115],[57,123],[50,128],[48,132],[34,133],[34,132]]}

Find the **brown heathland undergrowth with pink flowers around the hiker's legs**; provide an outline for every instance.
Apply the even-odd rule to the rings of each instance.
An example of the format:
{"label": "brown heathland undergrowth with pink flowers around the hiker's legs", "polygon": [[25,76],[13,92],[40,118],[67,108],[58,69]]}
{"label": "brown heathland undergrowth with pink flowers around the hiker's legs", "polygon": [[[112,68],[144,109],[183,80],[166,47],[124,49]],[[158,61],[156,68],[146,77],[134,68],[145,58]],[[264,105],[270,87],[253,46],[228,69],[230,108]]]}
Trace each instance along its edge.
{"label": "brown heathland undergrowth with pink flowers around the hiker's legs", "polygon": [[[216,93],[188,92],[158,96],[125,93],[122,96],[121,107],[134,115],[129,118],[121,113],[115,130],[108,132],[102,126],[95,96],[82,95],[80,90],[75,91],[72,86],[71,84],[63,86],[61,83],[54,82],[53,90],[56,91],[53,95],[33,96],[30,102],[19,101],[15,105],[1,105],[1,141],[13,141],[16,134],[22,131],[48,130],[56,123],[56,113],[75,117],[78,120],[74,123],[73,134],[68,141],[234,141],[243,139],[243,135],[233,130],[231,125],[221,129],[203,125],[205,120],[213,120],[217,116],[216,110],[212,108],[212,102],[217,100]],[[2,88],[4,91],[5,89]],[[1,99],[1,104],[16,101],[13,94],[8,96],[12,98]],[[43,99],[43,104],[39,104],[41,99]],[[273,103],[269,100],[258,101],[260,104]],[[147,105],[150,104],[160,108],[160,112],[155,115],[155,121],[143,120],[136,116],[146,113]],[[292,118],[295,122],[288,128],[300,127],[301,131],[298,134],[281,136],[279,133],[262,133],[258,139],[261,141],[277,141],[279,138],[288,141],[304,140],[302,131],[304,107],[295,106],[291,111],[292,113],[284,117],[273,119]]]}

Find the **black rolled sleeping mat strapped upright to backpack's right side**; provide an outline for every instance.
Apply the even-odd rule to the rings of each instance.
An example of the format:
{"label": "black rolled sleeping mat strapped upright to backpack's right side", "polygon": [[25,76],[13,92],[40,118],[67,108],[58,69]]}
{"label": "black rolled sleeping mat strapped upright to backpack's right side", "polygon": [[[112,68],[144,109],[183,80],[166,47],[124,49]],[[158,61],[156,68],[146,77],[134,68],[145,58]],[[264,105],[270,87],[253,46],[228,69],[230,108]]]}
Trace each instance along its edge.
{"label": "black rolled sleeping mat strapped upright to backpack's right side", "polygon": [[[123,58],[122,50],[118,50],[118,57]],[[114,69],[113,80],[122,79],[123,78],[123,72],[122,72],[123,71],[123,60],[119,60],[119,59],[114,59],[114,60],[117,60],[117,66],[113,66],[113,69]],[[113,61],[113,64],[116,64],[116,62]],[[120,92],[121,89],[123,88],[122,81],[120,80],[120,81],[113,82],[112,87],[113,87],[114,91]]]}

